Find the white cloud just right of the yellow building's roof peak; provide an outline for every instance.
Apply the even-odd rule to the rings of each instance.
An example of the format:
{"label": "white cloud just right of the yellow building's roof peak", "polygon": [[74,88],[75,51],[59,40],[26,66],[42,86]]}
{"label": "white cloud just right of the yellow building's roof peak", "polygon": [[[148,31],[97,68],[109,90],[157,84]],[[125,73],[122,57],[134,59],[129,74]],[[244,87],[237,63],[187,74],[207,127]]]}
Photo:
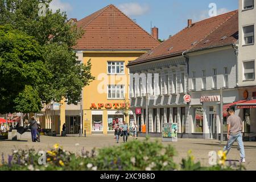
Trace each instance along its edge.
{"label": "white cloud just right of the yellow building's roof peak", "polygon": [[128,16],[139,16],[146,14],[149,10],[150,7],[146,4],[140,5],[139,3],[136,2],[131,2],[131,3],[123,3],[118,6],[123,13],[125,13]]}

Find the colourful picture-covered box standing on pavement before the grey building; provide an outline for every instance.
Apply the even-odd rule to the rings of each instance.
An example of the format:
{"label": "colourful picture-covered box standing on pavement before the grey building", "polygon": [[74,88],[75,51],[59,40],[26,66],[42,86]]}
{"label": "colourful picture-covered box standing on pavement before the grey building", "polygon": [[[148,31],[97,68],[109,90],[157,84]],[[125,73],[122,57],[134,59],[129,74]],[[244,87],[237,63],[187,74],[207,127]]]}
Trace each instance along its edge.
{"label": "colourful picture-covered box standing on pavement before the grey building", "polygon": [[163,123],[163,142],[177,142],[177,123]]}

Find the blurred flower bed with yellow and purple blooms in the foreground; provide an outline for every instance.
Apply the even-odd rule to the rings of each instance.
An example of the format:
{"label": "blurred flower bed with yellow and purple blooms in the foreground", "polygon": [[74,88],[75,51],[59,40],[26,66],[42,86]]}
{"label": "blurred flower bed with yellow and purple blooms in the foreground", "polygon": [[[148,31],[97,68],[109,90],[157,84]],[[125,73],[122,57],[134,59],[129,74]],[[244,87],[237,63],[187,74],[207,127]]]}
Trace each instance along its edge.
{"label": "blurred flower bed with yellow and purple blooms in the foreground", "polygon": [[46,152],[46,163],[40,165],[42,157],[34,149],[15,150],[7,161],[2,155],[0,171],[174,171],[174,170],[242,170],[242,166],[225,165],[226,154],[219,152],[218,164],[202,167],[194,162],[191,151],[181,164],[174,163],[174,147],[162,143],[134,140],[121,146],[101,148],[100,150],[81,151],[75,155],[65,151],[59,144]]}

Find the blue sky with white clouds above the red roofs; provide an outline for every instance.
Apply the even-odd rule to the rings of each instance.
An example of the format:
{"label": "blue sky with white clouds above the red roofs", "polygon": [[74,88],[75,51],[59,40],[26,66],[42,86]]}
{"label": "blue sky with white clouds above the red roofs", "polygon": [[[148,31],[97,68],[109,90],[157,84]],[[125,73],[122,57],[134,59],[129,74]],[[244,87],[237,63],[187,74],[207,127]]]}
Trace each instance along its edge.
{"label": "blue sky with white clouds above the red roofs", "polygon": [[238,9],[238,0],[53,0],[51,7],[80,20],[113,4],[148,32],[152,21],[152,26],[159,28],[159,38],[167,39],[182,30],[187,19],[197,22],[209,18],[210,3],[216,4],[217,14]]}

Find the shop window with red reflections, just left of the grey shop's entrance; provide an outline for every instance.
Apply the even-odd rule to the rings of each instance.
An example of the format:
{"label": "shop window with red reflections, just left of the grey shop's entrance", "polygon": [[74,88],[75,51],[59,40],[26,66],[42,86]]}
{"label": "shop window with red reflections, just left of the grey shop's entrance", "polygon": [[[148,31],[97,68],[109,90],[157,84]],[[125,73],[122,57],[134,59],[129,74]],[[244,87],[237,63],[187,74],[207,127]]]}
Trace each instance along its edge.
{"label": "shop window with red reflections, just left of the grey shop's entrance", "polygon": [[194,132],[204,132],[204,110],[203,107],[194,108]]}

